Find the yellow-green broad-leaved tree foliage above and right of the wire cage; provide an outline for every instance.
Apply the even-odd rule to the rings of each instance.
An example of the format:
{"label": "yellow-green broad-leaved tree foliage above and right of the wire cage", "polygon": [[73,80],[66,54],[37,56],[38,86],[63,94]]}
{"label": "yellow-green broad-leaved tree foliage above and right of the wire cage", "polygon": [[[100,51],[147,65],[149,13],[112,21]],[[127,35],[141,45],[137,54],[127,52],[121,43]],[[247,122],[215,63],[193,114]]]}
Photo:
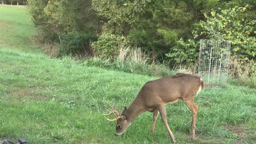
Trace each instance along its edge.
{"label": "yellow-green broad-leaved tree foliage above and right of the wire cage", "polygon": [[[212,10],[204,14],[206,21],[201,21],[200,35],[216,40],[228,40],[232,44],[232,57],[249,60],[256,56],[256,20],[246,16],[248,5],[226,10]],[[195,32],[194,37],[198,34]]]}

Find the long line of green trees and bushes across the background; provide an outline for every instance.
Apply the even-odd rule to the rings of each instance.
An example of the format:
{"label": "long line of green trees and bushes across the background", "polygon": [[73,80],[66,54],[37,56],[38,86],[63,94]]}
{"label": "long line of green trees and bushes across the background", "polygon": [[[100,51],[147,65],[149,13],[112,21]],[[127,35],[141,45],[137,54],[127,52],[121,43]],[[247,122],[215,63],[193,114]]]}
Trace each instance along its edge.
{"label": "long line of green trees and bushes across the background", "polygon": [[231,41],[232,58],[255,59],[255,0],[27,0],[27,5],[38,41],[60,43],[66,54],[93,49],[115,59],[122,44],[172,65],[194,64],[199,40],[213,38]]}

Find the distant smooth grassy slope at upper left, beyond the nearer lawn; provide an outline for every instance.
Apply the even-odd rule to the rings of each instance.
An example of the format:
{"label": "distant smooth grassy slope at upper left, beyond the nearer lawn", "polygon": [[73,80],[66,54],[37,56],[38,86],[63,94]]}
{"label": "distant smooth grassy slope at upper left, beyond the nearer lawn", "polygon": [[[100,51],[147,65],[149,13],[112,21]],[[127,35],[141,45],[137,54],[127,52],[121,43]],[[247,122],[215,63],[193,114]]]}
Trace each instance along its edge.
{"label": "distant smooth grassy slope at upper left, beyond the nearer lawn", "polygon": [[28,21],[25,6],[0,4],[0,46],[25,52],[40,52],[32,45],[35,26]]}

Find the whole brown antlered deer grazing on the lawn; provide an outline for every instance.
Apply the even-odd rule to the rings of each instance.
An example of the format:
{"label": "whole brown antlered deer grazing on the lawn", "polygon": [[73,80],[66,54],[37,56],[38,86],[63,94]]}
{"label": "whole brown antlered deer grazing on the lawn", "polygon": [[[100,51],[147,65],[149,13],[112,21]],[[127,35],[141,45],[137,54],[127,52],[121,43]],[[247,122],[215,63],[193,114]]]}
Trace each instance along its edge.
{"label": "whole brown antlered deer grazing on the lawn", "polygon": [[128,109],[125,107],[122,114],[110,105],[111,111],[108,110],[109,114],[103,115],[109,116],[110,114],[114,114],[116,116],[113,120],[105,118],[110,122],[117,120],[116,135],[121,135],[138,115],[146,111],[154,112],[151,129],[151,132],[154,133],[156,119],[158,113],[160,113],[172,141],[175,142],[174,135],[167,123],[165,105],[182,100],[193,114],[190,132],[192,139],[194,139],[198,109],[198,106],[194,103],[194,96],[202,91],[203,86],[202,78],[191,74],[179,73],[173,76],[152,80],[141,88],[130,107]]}

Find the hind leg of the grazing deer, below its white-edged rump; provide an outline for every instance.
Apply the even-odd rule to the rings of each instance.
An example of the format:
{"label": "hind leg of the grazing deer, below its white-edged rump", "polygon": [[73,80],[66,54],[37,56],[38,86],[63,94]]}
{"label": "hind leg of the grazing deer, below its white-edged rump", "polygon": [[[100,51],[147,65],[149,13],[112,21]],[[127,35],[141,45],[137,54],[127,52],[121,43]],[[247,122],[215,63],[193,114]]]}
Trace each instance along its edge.
{"label": "hind leg of the grazing deer, below its white-edged rump", "polygon": [[191,132],[192,140],[194,140],[196,135],[195,129],[196,129],[196,116],[197,116],[198,106],[194,103],[194,97],[184,98],[183,102],[188,106],[188,108],[191,110],[193,114],[192,122],[190,126],[190,132]]}

